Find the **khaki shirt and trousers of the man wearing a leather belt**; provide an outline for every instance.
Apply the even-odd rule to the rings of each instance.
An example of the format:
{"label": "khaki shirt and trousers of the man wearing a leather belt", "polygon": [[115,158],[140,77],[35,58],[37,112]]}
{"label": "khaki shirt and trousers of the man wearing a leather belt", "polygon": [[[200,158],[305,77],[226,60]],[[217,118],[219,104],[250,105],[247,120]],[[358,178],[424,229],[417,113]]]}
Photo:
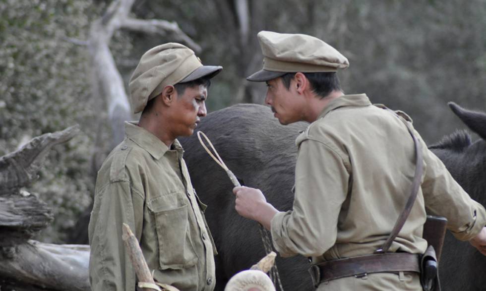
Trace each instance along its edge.
{"label": "khaki shirt and trousers of the man wearing a leather belt", "polygon": [[[410,117],[397,112],[411,123]],[[427,213],[444,216],[461,240],[486,225],[484,207],[472,200],[430,152],[420,135],[424,173],[417,200],[389,252],[422,254]],[[386,240],[405,207],[415,173],[415,148],[396,115],[373,106],[365,94],[332,100],[296,140],[293,210],[271,222],[282,256],[301,254],[313,263],[372,254]],[[421,290],[418,276],[368,274],[322,283],[318,290]]]}

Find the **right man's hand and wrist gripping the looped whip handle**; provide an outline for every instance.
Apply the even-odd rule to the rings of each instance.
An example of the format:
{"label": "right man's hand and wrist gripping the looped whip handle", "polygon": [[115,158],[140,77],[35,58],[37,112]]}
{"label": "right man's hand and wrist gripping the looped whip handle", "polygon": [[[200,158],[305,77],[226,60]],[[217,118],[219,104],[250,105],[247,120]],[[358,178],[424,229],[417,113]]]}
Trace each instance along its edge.
{"label": "right man's hand and wrist gripping the looped whip handle", "polygon": [[271,204],[259,189],[250,187],[235,187],[233,193],[236,195],[235,209],[243,217],[261,223],[267,230],[270,230],[270,223],[278,210]]}

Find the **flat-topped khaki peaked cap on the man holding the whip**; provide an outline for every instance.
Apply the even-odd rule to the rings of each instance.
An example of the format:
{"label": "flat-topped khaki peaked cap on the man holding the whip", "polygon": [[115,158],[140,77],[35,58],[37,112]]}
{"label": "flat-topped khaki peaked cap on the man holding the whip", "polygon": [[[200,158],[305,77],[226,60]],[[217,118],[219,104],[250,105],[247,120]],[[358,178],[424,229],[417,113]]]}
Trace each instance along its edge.
{"label": "flat-topped khaki peaked cap on the man holding the whip", "polygon": [[336,49],[310,35],[260,31],[263,69],[247,77],[264,82],[286,73],[336,72],[349,66],[348,59]]}

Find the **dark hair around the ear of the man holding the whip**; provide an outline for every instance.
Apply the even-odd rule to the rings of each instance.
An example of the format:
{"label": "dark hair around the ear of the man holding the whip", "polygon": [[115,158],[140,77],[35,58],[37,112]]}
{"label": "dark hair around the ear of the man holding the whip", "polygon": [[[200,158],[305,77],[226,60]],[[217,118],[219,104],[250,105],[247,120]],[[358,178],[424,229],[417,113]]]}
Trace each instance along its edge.
{"label": "dark hair around the ear of the man holding the whip", "polygon": [[[285,88],[289,90],[290,81],[294,79],[296,73],[287,73],[282,76],[282,82]],[[309,80],[312,92],[314,92],[320,99],[326,97],[332,91],[342,91],[341,84],[336,72],[318,72],[318,73],[303,73]]]}

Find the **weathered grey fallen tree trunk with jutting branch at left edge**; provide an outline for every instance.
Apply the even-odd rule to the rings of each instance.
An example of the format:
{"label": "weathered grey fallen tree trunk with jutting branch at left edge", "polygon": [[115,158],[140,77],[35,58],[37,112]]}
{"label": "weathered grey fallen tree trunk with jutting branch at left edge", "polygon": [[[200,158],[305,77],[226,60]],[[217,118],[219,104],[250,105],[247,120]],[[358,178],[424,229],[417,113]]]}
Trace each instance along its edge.
{"label": "weathered grey fallen tree trunk with jutting branch at left edge", "polygon": [[71,126],[35,137],[0,157],[0,288],[89,291],[88,245],[42,243],[31,238],[53,220],[50,207],[21,190],[37,179],[49,150],[79,132]]}

